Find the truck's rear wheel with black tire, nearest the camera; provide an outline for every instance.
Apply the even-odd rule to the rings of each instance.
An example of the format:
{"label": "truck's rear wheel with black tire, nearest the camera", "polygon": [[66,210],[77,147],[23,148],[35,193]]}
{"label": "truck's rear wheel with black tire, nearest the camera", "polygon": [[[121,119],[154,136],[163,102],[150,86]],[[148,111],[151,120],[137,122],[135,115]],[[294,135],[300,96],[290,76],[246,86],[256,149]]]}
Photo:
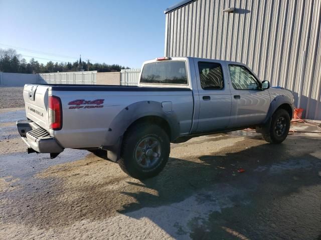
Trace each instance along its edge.
{"label": "truck's rear wheel with black tire, nearest the camera", "polygon": [[[156,142],[158,144],[150,148]],[[157,156],[147,155],[147,151]],[[137,179],[146,179],[163,170],[169,155],[170,139],[166,131],[156,124],[139,123],[130,127],[125,134],[118,164],[128,175]]]}

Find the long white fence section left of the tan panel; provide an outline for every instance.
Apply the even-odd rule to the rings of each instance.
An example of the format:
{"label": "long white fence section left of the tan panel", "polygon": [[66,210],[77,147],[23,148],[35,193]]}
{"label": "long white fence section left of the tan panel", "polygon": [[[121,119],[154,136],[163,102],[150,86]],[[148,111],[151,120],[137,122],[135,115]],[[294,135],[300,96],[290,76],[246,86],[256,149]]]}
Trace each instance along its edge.
{"label": "long white fence section left of the tan panel", "polygon": [[48,84],[96,84],[97,71],[69,71],[39,73],[39,83]]}

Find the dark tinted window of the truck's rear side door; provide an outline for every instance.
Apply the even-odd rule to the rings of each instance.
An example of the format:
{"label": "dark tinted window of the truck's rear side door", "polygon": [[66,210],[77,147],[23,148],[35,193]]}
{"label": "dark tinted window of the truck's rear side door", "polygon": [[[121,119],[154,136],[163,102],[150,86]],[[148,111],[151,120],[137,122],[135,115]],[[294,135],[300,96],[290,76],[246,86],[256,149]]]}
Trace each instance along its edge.
{"label": "dark tinted window of the truck's rear side door", "polygon": [[223,89],[222,66],[215,62],[199,62],[201,86],[204,90]]}

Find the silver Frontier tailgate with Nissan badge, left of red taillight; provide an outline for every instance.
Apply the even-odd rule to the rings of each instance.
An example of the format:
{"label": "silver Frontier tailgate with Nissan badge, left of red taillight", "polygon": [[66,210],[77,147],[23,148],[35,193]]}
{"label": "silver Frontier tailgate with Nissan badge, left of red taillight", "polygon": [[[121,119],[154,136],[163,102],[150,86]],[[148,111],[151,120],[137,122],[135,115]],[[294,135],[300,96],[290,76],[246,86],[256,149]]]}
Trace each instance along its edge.
{"label": "silver Frontier tailgate with Nissan badge, left of red taillight", "polygon": [[49,131],[48,90],[50,86],[27,84],[24,100],[27,118]]}

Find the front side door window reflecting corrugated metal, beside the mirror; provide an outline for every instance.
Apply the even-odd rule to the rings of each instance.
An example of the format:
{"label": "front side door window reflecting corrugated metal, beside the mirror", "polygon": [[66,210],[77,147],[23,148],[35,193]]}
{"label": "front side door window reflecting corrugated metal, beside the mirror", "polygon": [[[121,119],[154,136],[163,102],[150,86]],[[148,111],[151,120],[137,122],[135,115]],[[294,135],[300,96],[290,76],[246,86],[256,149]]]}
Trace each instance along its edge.
{"label": "front side door window reflecting corrugated metal, beside the mirror", "polygon": [[258,90],[259,84],[252,73],[244,66],[229,65],[232,85],[238,90]]}

